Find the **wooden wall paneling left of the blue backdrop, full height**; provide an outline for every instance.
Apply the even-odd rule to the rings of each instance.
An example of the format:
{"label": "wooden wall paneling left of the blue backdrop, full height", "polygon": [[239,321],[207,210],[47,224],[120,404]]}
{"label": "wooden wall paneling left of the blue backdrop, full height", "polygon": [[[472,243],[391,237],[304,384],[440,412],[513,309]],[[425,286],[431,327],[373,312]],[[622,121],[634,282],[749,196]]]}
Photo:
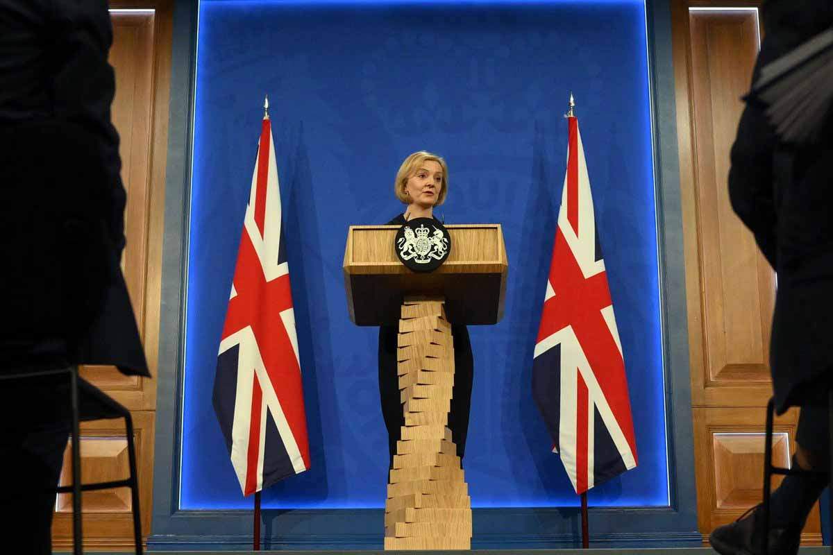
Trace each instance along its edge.
{"label": "wooden wall paneling left of the blue backdrop, full height", "polygon": [[[162,284],[162,236],[167,155],[168,100],[171,82],[172,0],[113,0],[113,46],[116,73],[112,121],[121,138],[122,181],[127,190],[122,255],[127,289],[142,335],[152,376],[157,368]],[[153,428],[156,380],[124,376],[108,366],[87,366],[81,374],[132,412],[137,434],[142,535],[150,533],[152,509]],[[102,420],[82,425],[82,476],[111,479],[127,472],[122,423]],[[125,447],[125,449],[122,449]],[[68,475],[70,468],[64,468]],[[126,475],[126,474],[125,474]],[[71,497],[59,496],[52,527],[57,549],[72,543]],[[132,518],[127,488],[85,493],[84,547],[132,548]]]}

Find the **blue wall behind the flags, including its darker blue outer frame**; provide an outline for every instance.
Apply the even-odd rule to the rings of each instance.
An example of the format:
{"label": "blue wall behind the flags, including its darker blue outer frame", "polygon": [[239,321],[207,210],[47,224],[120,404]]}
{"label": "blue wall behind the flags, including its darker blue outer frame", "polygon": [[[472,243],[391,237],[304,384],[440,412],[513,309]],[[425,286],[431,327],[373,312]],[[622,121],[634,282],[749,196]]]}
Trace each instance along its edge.
{"label": "blue wall behind the flags, including its darker blue outer frame", "polygon": [[576,498],[530,394],[569,92],[640,457],[591,492],[591,543],[700,545],[667,0],[175,0],[173,10],[149,547],[252,544],[252,498],[240,496],[209,399],[266,93],[313,459],[264,493],[267,548],[382,547],[376,330],[349,322],[341,260],[347,225],[402,209],[392,177],[418,148],[451,166],[438,214],[500,222],[511,264],[506,318],[471,328],[473,545],[576,545]]}

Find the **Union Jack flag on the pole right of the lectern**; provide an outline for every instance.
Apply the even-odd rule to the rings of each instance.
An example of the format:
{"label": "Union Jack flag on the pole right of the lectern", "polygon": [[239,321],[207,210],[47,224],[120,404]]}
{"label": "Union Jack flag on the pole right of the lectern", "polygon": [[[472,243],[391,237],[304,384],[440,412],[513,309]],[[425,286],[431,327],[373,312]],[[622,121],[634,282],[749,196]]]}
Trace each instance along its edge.
{"label": "Union Jack flag on the pole right of the lectern", "polygon": [[584,148],[578,121],[567,120],[567,172],[532,363],[532,394],[553,453],[561,454],[576,493],[584,493],[636,467],[636,439]]}

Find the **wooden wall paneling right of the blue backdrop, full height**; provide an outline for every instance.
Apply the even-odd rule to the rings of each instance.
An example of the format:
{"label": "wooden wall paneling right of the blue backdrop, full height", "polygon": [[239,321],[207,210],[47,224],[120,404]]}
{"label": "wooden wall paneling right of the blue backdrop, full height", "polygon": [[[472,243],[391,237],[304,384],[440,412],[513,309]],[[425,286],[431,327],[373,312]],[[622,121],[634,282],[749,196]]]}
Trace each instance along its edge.
{"label": "wooden wall paneling right of the blue backdrop, full height", "polygon": [[[686,304],[695,434],[697,514],[704,541],[761,499],[775,275],[731,210],[729,155],[751,82],[760,2],[672,0],[672,57],[686,259]],[[785,463],[796,411],[776,419]],[[818,543],[817,508],[805,543]]]}

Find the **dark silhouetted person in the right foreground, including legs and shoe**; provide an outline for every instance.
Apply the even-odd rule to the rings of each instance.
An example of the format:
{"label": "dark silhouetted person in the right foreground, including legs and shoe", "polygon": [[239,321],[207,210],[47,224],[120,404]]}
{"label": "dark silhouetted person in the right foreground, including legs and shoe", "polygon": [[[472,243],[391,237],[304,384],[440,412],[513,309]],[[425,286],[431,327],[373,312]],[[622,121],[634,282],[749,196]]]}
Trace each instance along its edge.
{"label": "dark silhouetted person in the right foreground, including legs and shoe", "polygon": [[[833,25],[833,2],[769,0],[761,67]],[[755,234],[778,285],[770,364],[776,412],[801,407],[793,468],[829,468],[827,395],[833,377],[833,113],[813,144],[780,141],[762,107],[746,106],[731,150],[731,205]],[[719,553],[797,553],[801,529],[829,476],[787,476],[771,495],[770,528],[761,505],[711,533]]]}

